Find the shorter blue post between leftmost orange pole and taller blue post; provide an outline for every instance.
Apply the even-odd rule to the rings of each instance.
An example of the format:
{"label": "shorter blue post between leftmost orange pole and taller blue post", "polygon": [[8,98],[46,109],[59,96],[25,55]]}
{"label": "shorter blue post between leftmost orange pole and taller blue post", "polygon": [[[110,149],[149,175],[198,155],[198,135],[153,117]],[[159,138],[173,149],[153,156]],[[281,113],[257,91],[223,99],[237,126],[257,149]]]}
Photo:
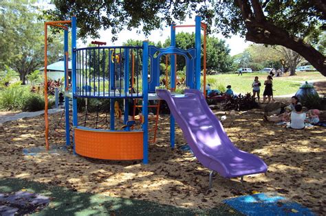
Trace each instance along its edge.
{"label": "shorter blue post between leftmost orange pole and taller blue post", "polygon": [[[64,42],[64,51],[65,53],[69,50],[69,41],[68,41],[68,30],[65,29],[65,42]],[[69,83],[69,77],[67,76],[67,56],[64,55],[65,58],[65,86],[67,86]],[[69,125],[69,97],[67,97],[67,94],[69,91],[65,91],[65,145],[70,145],[70,125]]]}

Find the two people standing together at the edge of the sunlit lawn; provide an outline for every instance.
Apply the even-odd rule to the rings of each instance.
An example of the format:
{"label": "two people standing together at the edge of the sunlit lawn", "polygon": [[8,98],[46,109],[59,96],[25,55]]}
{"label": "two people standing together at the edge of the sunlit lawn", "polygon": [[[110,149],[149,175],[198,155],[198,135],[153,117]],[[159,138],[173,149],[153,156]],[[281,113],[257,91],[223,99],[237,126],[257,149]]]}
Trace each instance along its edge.
{"label": "two people standing together at the edge of the sunlit lawn", "polygon": [[[264,82],[265,89],[263,91],[263,104],[265,104],[266,99],[268,99],[268,103],[270,100],[274,101],[273,97],[273,77],[268,75],[267,79]],[[259,77],[254,77],[254,82],[252,83],[252,97],[256,97],[258,102],[260,101],[259,94],[261,92],[261,82],[259,81]]]}

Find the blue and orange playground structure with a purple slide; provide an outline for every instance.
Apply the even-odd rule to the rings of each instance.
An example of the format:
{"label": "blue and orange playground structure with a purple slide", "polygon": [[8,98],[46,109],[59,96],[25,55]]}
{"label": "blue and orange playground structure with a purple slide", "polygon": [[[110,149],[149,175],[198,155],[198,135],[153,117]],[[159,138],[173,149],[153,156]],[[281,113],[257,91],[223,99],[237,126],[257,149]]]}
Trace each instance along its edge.
{"label": "blue and orange playground structure with a purple slide", "polygon": [[[185,133],[195,156],[210,173],[210,186],[213,171],[217,171],[225,178],[242,177],[253,173],[265,173],[267,166],[263,161],[252,154],[237,149],[224,132],[221,123],[213,112],[209,112],[201,88],[201,29],[204,29],[204,94],[206,93],[206,24],[196,16],[195,25],[171,25],[171,47],[158,48],[144,41],[142,46],[102,46],[76,47],[76,17],[72,21],[58,21],[45,23],[65,30],[65,62],[68,60],[68,28],[72,29],[72,88],[69,88],[69,75],[65,70],[65,137],[66,145],[70,145],[69,138],[69,99],[72,100],[72,128],[74,154],[89,158],[105,160],[141,160],[149,163],[149,108],[157,108],[157,104],[149,105],[149,101],[164,99],[171,109],[170,142],[175,147],[175,120]],[[177,27],[195,27],[195,47],[183,50],[175,46],[175,29]],[[45,44],[47,34],[45,32]],[[176,58],[183,56],[186,61],[185,84],[189,90],[185,95],[173,93],[176,88]],[[170,56],[171,71],[166,81],[167,90],[157,89],[160,86],[160,58]],[[166,60],[167,62],[167,60]],[[45,80],[46,77],[46,46],[45,46]],[[173,67],[174,66],[174,67]],[[45,82],[46,83],[46,82]],[[47,121],[47,86],[45,86],[45,139],[48,143]],[[109,99],[109,130],[89,128],[78,125],[77,99]],[[123,128],[116,127],[115,115],[119,108],[116,100],[124,101]],[[133,101],[133,107],[129,106]],[[142,101],[142,105],[138,104]],[[180,106],[176,106],[182,101]],[[186,106],[191,104],[191,106]],[[186,108],[187,107],[187,108]],[[134,128],[134,122],[129,119],[129,110],[142,108],[140,115],[141,128]],[[191,108],[191,110],[189,110]],[[155,128],[157,128],[157,115]],[[175,119],[176,118],[176,119]],[[119,118],[118,118],[119,119]],[[155,141],[155,134],[153,141]]]}

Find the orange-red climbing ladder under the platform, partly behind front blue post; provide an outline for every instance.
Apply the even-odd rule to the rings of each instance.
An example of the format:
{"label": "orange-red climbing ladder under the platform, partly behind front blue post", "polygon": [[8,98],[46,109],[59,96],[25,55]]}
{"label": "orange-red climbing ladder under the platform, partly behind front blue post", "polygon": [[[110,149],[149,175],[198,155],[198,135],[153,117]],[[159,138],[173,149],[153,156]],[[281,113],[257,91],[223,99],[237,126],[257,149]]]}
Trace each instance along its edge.
{"label": "orange-red climbing ladder under the platform, partly behind front blue post", "polygon": [[[142,108],[142,105],[138,105],[138,101],[141,101],[142,99],[134,99],[133,100],[133,120],[138,120],[140,122],[142,122],[142,118],[140,118],[140,116],[136,117],[135,116],[135,111],[137,108]],[[153,116],[149,116],[149,123],[153,123],[153,126],[149,126],[149,132],[153,132],[153,139],[149,139],[149,143],[155,143],[156,141],[156,134],[157,134],[157,123],[158,120],[160,119],[160,104],[161,104],[161,100],[151,100],[154,101],[153,105],[149,105],[148,108],[155,108],[156,112],[155,115]],[[155,101],[156,104],[155,104]],[[142,103],[141,103],[142,104]]]}

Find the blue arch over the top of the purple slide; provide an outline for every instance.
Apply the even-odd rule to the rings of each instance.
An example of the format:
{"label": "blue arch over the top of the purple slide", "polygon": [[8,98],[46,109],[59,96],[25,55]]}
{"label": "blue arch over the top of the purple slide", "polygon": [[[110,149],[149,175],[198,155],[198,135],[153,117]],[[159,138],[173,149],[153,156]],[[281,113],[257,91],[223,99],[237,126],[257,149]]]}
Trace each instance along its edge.
{"label": "blue arch over the top of the purple slide", "polygon": [[[155,53],[159,51],[157,56]],[[149,46],[149,58],[151,59],[151,81],[149,82],[149,93],[155,93],[155,86],[160,86],[160,57],[166,54],[177,54],[184,56],[186,59],[186,86],[190,88],[195,88],[195,59],[196,59],[196,49],[179,49],[177,47],[166,47],[157,48],[155,46]],[[189,56],[191,58],[189,58]]]}

